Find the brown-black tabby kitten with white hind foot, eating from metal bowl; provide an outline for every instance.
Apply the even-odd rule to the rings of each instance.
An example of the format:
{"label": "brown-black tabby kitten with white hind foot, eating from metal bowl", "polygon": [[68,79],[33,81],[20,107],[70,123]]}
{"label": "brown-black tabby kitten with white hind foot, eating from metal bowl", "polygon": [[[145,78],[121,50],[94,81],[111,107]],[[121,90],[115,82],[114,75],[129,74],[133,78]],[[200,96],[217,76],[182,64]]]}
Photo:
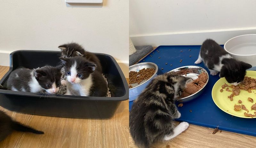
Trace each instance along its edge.
{"label": "brown-black tabby kitten with white hind foot, eating from metal bowl", "polygon": [[175,100],[183,93],[189,79],[172,72],[159,75],[134,101],[129,127],[139,148],[148,148],[157,140],[170,140],[188,128],[187,122],[175,127],[173,119],[180,118]]}

